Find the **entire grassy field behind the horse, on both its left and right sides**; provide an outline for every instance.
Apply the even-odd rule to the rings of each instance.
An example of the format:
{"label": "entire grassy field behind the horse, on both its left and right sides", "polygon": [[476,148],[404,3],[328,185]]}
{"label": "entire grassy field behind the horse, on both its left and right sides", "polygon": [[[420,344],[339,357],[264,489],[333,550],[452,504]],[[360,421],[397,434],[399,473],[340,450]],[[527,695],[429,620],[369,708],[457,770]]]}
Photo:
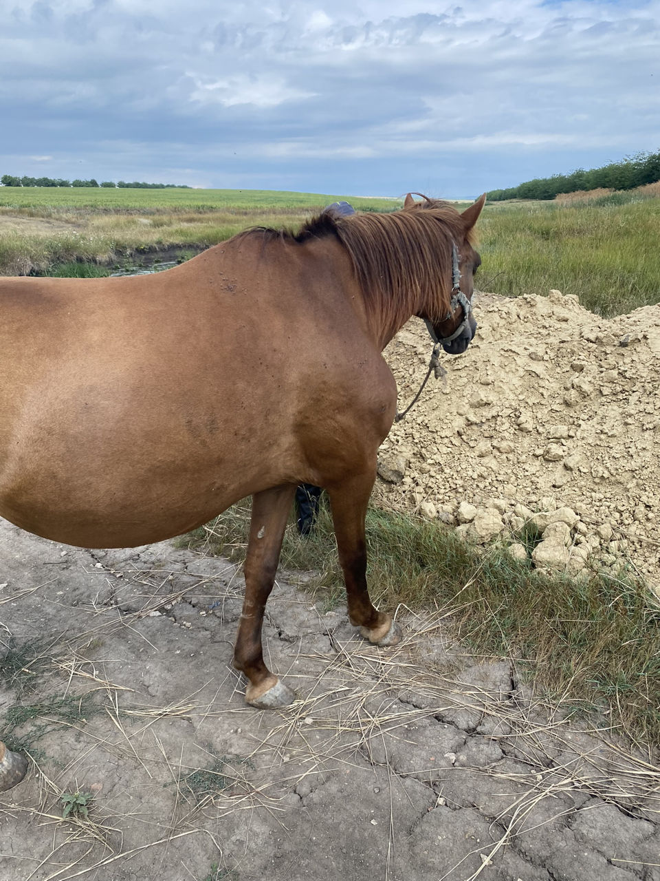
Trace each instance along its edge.
{"label": "entire grassy field behind the horse, on both its left and right sides", "polygon": [[[295,229],[342,198],[361,211],[400,206],[266,190],[2,187],[0,274],[48,272],[76,260],[114,265],[168,248],[194,253],[247,226]],[[660,302],[660,198],[487,204],[478,228],[482,290],[517,296],[557,288],[602,315]]]}

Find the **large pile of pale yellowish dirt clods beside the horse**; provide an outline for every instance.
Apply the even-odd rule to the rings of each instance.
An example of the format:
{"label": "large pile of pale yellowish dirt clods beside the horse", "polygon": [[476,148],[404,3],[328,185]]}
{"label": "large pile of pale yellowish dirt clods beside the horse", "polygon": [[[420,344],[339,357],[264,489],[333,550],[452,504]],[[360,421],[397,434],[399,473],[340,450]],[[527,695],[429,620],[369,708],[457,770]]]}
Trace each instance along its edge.
{"label": "large pile of pale yellowish dirt clods beside the horse", "polygon": [[[514,553],[532,521],[539,566],[628,567],[660,591],[660,306],[605,319],[559,291],[485,293],[475,315],[473,344],[383,444],[377,503]],[[400,409],[430,348],[414,319],[385,350]]]}

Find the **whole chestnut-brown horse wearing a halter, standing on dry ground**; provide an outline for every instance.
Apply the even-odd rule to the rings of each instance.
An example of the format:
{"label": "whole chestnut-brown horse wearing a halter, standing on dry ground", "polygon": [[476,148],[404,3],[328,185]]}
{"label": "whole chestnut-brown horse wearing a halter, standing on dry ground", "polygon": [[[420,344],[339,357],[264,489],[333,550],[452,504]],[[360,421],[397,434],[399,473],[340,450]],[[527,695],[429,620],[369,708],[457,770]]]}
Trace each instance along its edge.
{"label": "whole chestnut-brown horse wearing a halter, standing on dry ground", "polygon": [[[466,350],[485,199],[324,211],[151,276],[0,278],[0,515],[55,542],[133,547],[252,495],[234,665],[248,703],[283,707],[296,694],[264,663],[264,610],[296,487],[321,486],[348,617],[394,644],[366,582],[364,518],[397,404],[381,352],[412,315]],[[10,759],[0,744],[0,788],[19,773]]]}

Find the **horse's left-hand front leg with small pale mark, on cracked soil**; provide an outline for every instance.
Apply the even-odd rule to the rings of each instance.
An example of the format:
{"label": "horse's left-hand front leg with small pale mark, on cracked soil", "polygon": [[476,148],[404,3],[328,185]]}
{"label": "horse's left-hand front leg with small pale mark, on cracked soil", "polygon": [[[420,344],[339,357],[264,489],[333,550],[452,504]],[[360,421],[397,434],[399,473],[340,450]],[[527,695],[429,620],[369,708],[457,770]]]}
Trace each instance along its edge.
{"label": "horse's left-hand front leg with small pale mark, on cracked soil", "polygon": [[234,666],[249,679],[246,701],[253,707],[286,707],[296,700],[296,692],[268,670],[261,648],[266,601],[275,583],[282,537],[294,492],[295,486],[278,486],[253,496],[244,567],[246,598],[234,649]]}

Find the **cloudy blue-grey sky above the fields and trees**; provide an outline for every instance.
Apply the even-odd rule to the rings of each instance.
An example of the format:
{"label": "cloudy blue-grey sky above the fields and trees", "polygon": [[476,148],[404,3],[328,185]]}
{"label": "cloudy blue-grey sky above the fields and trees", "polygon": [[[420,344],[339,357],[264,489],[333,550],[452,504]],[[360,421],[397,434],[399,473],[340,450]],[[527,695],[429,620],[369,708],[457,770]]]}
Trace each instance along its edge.
{"label": "cloudy blue-grey sky above the fields and trees", "polygon": [[660,0],[0,0],[0,174],[469,198],[660,150]]}

